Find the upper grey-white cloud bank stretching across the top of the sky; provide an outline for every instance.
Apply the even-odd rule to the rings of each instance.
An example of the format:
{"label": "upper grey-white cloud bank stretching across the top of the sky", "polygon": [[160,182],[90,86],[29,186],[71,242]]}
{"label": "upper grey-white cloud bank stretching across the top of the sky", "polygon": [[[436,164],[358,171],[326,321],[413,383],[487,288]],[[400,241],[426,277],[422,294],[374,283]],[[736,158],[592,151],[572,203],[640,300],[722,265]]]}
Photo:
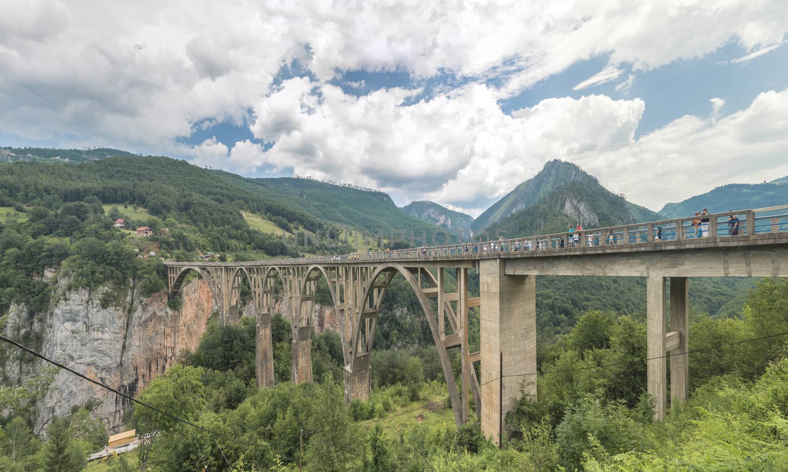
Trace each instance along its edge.
{"label": "upper grey-white cloud bank stretching across the top of the sky", "polygon": [[502,98],[600,54],[637,71],[730,41],[754,57],[786,32],[784,0],[6,0],[0,132],[177,151],[203,121],[245,123],[295,61],[319,83],[359,69],[492,78]]}

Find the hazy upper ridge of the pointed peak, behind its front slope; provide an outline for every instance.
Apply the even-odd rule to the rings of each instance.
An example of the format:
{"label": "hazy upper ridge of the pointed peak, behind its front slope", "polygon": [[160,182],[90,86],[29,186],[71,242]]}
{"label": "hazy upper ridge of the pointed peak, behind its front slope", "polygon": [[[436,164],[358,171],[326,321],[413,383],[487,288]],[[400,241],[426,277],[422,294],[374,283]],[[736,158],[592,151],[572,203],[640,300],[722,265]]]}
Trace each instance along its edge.
{"label": "hazy upper ridge of the pointed peak, behind its front slope", "polygon": [[504,198],[498,200],[476,217],[473,224],[470,225],[470,229],[474,232],[485,229],[496,221],[503,220],[505,217],[524,209],[556,188],[574,181],[593,184],[597,179],[589,176],[589,174],[583,172],[582,169],[571,162],[563,162],[557,159],[550,161],[545,164],[545,167],[536,176],[519,184],[514,190],[507,193]]}

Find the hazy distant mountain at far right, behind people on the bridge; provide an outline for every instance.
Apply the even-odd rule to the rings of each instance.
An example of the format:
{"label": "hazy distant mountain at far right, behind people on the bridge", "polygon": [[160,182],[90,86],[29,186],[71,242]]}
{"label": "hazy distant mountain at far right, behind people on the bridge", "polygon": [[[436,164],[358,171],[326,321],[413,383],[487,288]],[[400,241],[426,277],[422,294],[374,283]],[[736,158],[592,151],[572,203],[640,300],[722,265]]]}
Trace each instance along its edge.
{"label": "hazy distant mountain at far right, behind people on the bridge", "polygon": [[[767,184],[728,184],[695,195],[679,203],[668,203],[660,210],[667,217],[678,218],[695,214],[704,208],[712,213],[745,210],[788,204],[788,177]],[[780,183],[782,182],[782,183]]]}

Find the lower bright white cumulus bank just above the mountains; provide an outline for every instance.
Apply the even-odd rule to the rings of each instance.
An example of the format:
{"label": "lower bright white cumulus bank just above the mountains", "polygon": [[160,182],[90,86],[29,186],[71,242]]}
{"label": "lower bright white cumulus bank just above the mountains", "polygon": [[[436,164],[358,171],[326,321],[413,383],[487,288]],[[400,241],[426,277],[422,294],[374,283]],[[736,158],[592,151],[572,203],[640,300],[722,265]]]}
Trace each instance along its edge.
{"label": "lower bright white cumulus bank just above the mountains", "polygon": [[282,93],[298,96],[299,106],[283,117],[268,113],[276,107],[264,99],[255,110],[265,113],[255,112],[252,125],[273,146],[236,143],[229,161],[227,153],[214,154],[214,165],[292,168],[381,188],[400,203],[430,199],[474,216],[555,158],[653,210],[720,184],[788,174],[788,90],[764,92],[721,118],[724,100],[715,98],[710,117],[680,117],[639,138],[647,106],[639,98],[548,98],[507,115],[481,85],[413,104],[401,89],[355,97],[307,79],[288,80],[273,95]]}

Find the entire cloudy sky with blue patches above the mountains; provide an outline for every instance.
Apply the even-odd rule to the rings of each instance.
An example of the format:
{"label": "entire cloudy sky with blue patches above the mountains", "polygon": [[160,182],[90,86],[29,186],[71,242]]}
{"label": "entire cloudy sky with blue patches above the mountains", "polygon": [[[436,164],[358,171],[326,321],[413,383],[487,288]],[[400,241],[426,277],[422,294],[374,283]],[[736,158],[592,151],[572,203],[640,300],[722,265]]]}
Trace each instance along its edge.
{"label": "entire cloudy sky with blue patches above the mountains", "polygon": [[788,175],[786,0],[0,0],[0,145],[478,214],[548,160],[660,210]]}

